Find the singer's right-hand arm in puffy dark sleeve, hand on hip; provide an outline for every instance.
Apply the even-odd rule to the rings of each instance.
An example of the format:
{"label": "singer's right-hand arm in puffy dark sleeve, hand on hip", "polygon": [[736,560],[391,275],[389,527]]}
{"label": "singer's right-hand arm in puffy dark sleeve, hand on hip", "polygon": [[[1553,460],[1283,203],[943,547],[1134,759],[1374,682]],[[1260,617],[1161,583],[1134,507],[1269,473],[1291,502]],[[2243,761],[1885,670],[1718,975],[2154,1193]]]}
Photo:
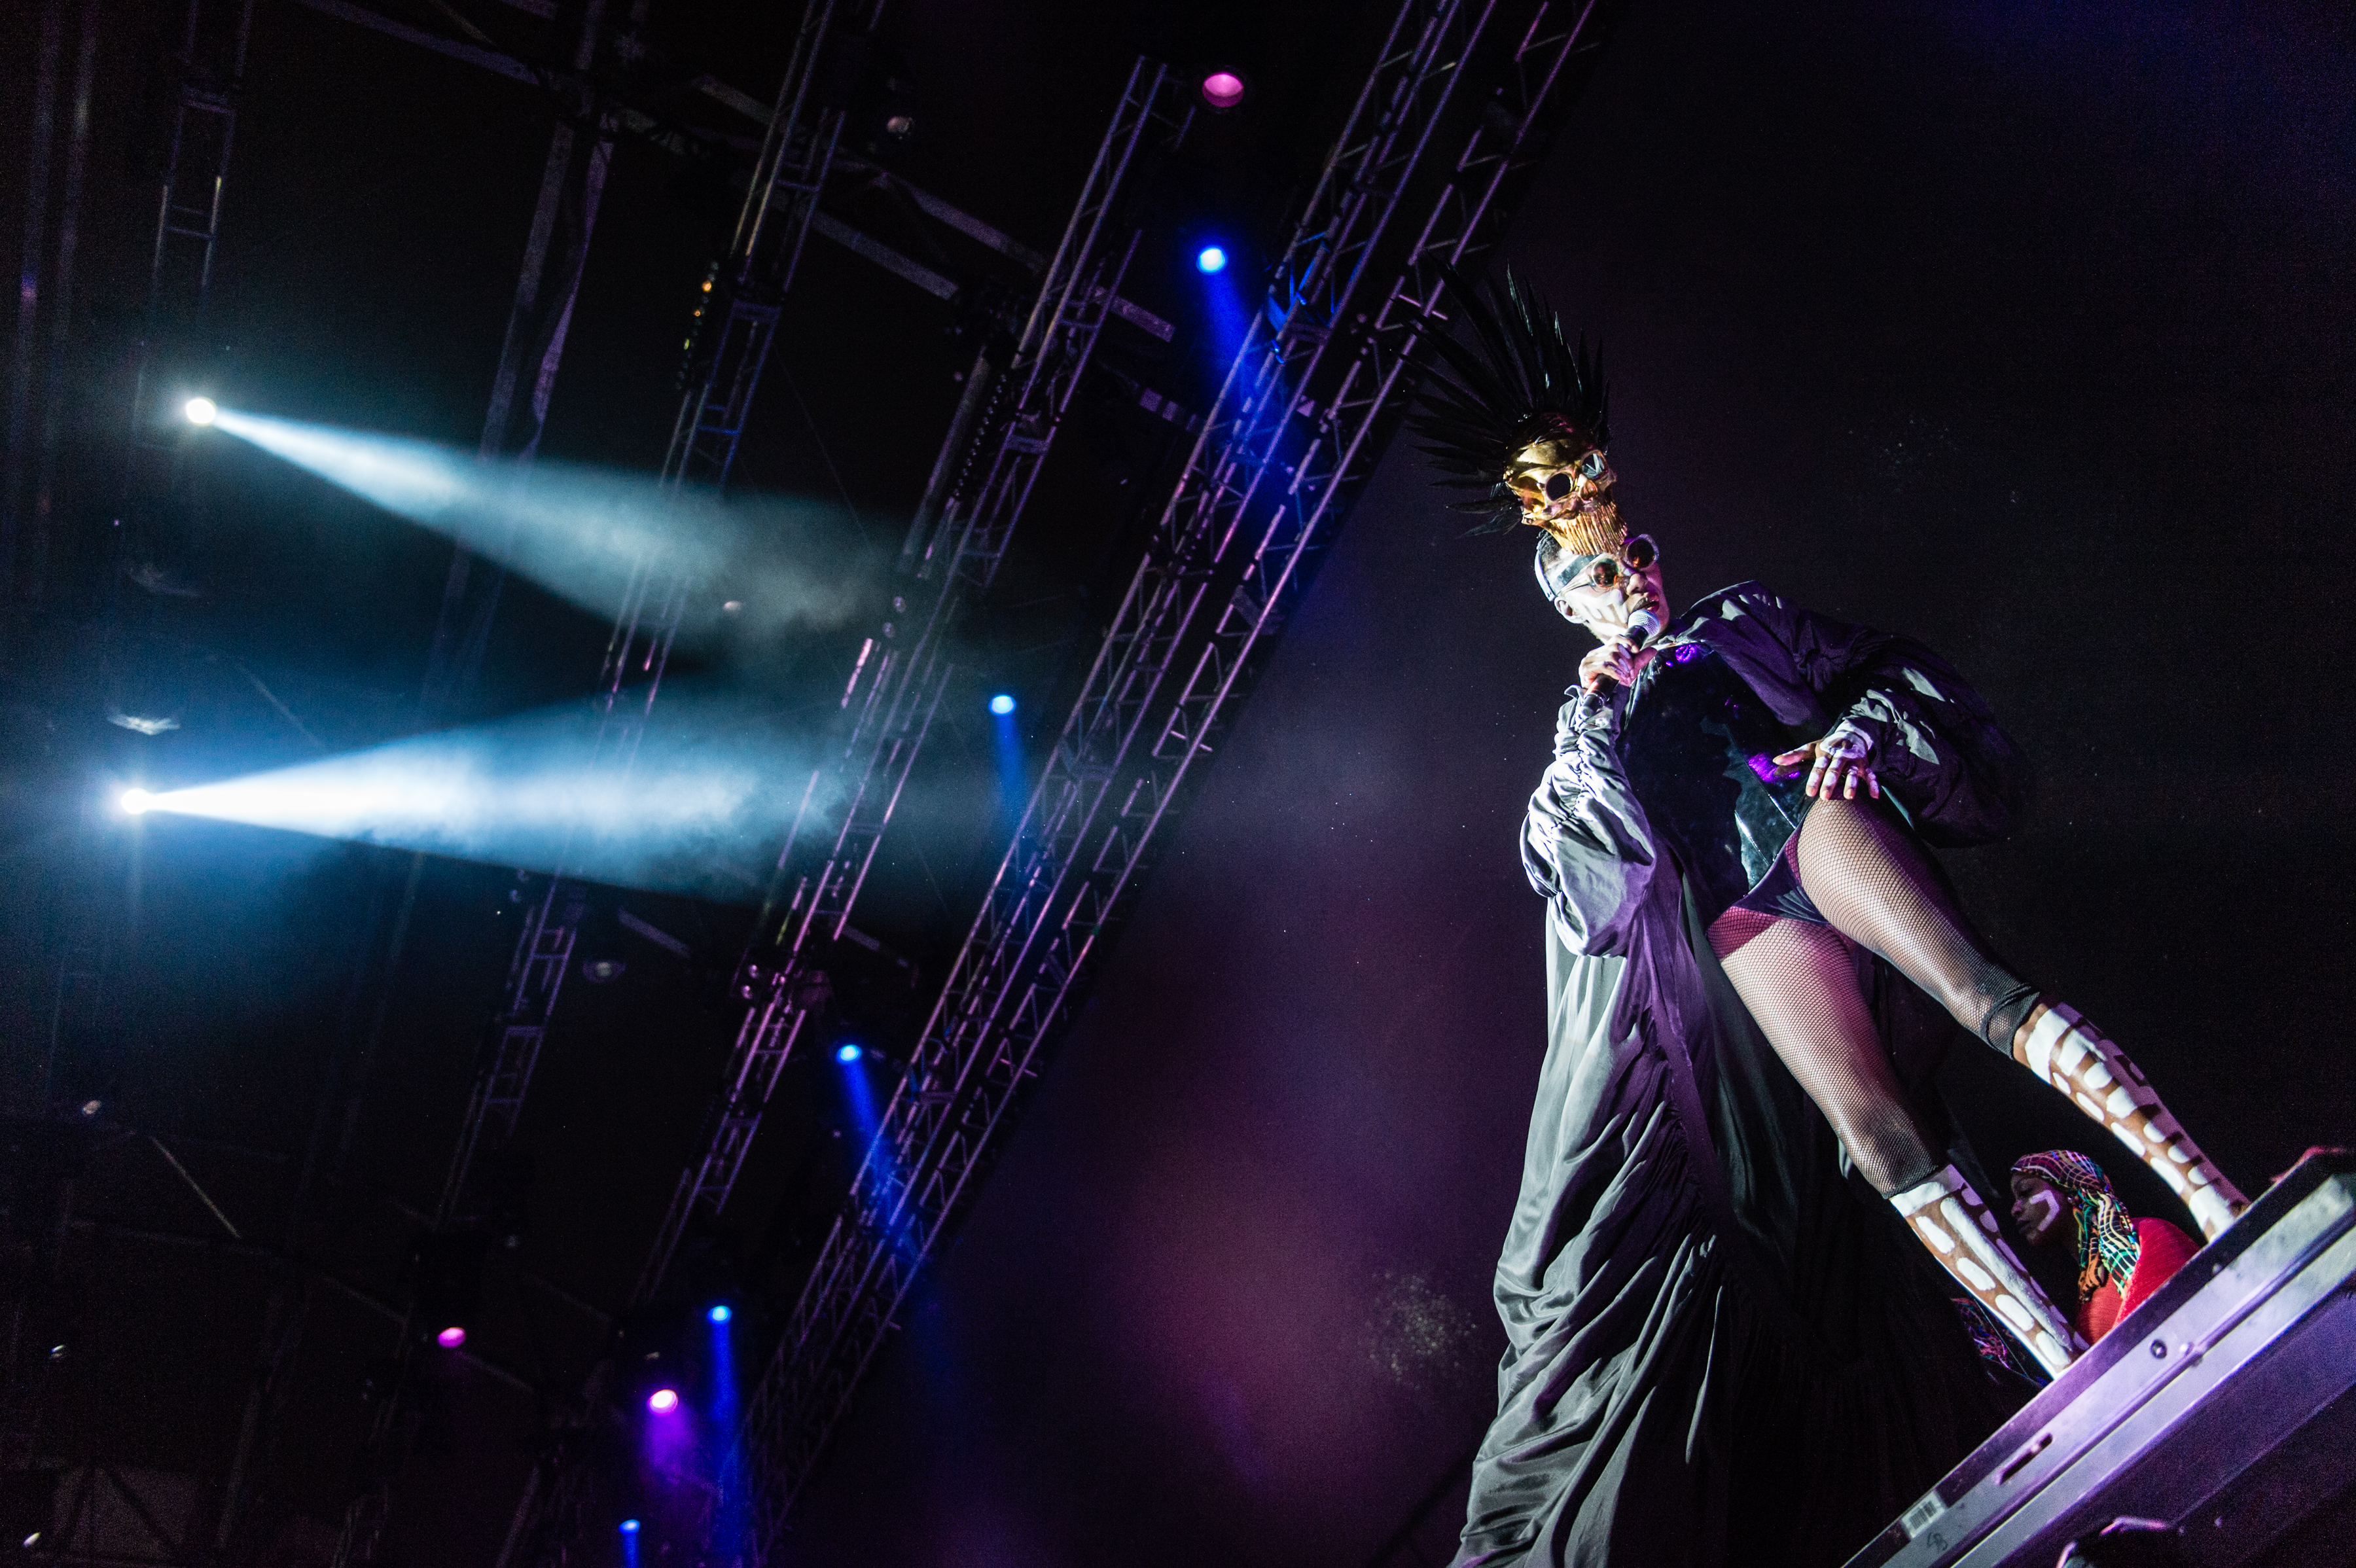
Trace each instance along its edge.
{"label": "singer's right-hand arm in puffy dark sleeve, hand on hip", "polygon": [[[1828,763],[1826,779],[1840,793],[1892,789],[1934,843],[1984,843],[2010,829],[2029,796],[2029,763],[1953,664],[1913,638],[1762,591],[1746,593],[1743,607],[1774,631],[1800,678],[1838,716],[1826,735],[1833,758],[1824,742],[1786,756],[1814,751],[1809,760]],[[1854,775],[1859,765],[1871,782]]]}

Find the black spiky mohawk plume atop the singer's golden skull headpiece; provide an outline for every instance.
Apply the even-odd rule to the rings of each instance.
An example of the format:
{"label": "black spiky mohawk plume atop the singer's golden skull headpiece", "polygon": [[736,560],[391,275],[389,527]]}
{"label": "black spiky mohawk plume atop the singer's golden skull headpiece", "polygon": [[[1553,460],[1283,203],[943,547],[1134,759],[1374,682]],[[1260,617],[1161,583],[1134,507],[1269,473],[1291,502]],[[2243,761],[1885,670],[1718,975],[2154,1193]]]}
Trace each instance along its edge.
{"label": "black spiky mohawk plume atop the singer's golden skull headpiece", "polygon": [[1440,365],[1423,384],[1421,410],[1409,431],[1418,447],[1451,478],[1449,490],[1472,490],[1475,499],[1451,501],[1451,511],[1491,520],[1475,534],[1503,532],[1520,520],[1520,499],[1505,485],[1505,469],[1534,440],[1555,436],[1590,447],[1609,445],[1609,388],[1602,356],[1588,339],[1564,337],[1562,320],[1536,290],[1505,268],[1505,287],[1465,283],[1454,266],[1440,268],[1449,311],[1472,330],[1461,344],[1430,318],[1430,344]]}

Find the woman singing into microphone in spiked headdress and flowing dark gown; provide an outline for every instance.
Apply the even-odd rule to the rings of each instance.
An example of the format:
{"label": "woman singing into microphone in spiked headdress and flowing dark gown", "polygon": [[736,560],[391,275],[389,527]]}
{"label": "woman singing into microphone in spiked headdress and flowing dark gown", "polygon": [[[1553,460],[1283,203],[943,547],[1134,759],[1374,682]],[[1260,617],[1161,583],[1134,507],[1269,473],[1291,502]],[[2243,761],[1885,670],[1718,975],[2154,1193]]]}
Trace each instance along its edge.
{"label": "woman singing into microphone in spiked headdress and flowing dark gown", "polygon": [[[1802,1147],[1788,1125],[1746,1118],[1743,1038],[1765,1036],[1864,1182],[2052,1373],[2083,1347],[1998,1236],[1967,1151],[1906,1092],[1887,970],[2111,1128],[2205,1236],[2245,1203],[2116,1043],[1996,963],[1925,852],[1996,838],[2024,793],[1979,695],[1927,647],[1758,584],[1666,617],[1663,551],[1619,516],[1586,341],[1513,278],[1501,297],[1451,278],[1449,304],[1472,341],[1432,332],[1444,374],[1423,450],[1480,494],[1465,509],[1538,530],[1538,589],[1597,638],[1522,836],[1548,902],[1553,1038],[1496,1281],[1501,1410],[1458,1561],[1708,1561],[1708,1521],[1765,1462],[1710,1453],[1710,1434],[1758,1434],[1727,1401],[1798,1333],[1734,1344],[1729,1321],[1854,1276],[1864,1253],[1826,1250],[1840,1227],[1871,1241],[1838,1205],[1786,1201],[1760,1222],[1807,1170],[1786,1158]],[[1748,1104],[1772,1107],[1772,1085]],[[1875,1387],[1930,1389],[1937,1347],[1963,1340],[1854,1321]],[[1842,1481],[1788,1476],[1819,1483]]]}

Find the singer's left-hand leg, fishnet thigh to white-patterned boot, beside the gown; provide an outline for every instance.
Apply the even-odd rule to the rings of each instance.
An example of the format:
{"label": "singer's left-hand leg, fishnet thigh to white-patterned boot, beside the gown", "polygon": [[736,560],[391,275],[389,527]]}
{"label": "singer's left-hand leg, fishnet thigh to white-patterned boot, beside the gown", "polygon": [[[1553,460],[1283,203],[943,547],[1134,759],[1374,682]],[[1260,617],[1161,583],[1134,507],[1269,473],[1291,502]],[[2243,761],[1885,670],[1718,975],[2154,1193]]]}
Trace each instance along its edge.
{"label": "singer's left-hand leg, fishnet thigh to white-patterned boot, beside the gown", "polygon": [[1849,1161],[1972,1297],[2029,1354],[2062,1373],[2083,1349],[1996,1231],[1996,1215],[1953,1165],[1939,1168],[1857,989],[1857,961],[1835,930],[1729,909],[1710,925],[1734,994],[1760,1034],[1833,1123]]}

